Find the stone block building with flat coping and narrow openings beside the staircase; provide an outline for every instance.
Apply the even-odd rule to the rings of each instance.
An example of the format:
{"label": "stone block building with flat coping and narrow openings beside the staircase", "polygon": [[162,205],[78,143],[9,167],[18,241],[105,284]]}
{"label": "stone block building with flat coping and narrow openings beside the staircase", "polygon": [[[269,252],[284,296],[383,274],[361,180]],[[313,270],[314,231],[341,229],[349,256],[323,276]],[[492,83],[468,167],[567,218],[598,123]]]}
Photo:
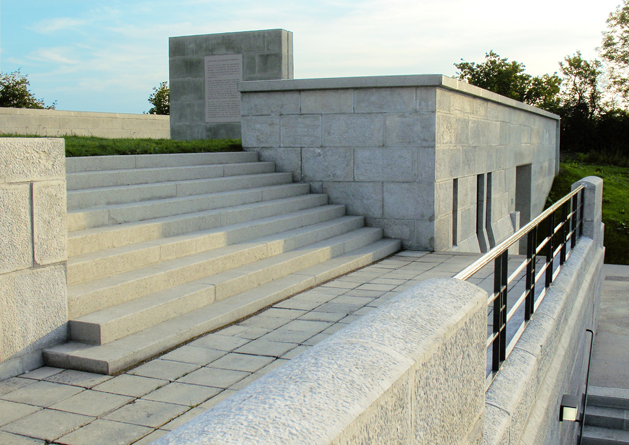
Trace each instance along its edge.
{"label": "stone block building with flat coping and narrow openings beside the staircase", "polygon": [[488,250],[541,212],[556,172],[557,116],[445,76],[239,88],[245,149],[406,248]]}

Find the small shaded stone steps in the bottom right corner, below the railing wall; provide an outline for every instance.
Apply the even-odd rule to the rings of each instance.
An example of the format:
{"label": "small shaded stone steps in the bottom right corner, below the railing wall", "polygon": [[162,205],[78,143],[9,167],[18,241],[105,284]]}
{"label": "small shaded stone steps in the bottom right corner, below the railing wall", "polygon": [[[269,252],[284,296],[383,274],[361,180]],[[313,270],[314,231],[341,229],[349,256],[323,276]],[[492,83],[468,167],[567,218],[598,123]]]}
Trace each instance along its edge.
{"label": "small shaded stone steps in the bottom right corner, below the railing wall", "polygon": [[590,386],[583,445],[629,444],[629,390]]}

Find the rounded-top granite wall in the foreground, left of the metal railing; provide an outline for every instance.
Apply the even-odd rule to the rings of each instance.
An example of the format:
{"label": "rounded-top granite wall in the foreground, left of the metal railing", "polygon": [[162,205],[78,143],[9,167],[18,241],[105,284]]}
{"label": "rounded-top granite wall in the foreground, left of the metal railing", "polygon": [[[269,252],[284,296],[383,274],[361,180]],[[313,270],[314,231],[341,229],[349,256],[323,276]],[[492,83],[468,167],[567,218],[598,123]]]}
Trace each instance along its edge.
{"label": "rounded-top granite wall in the foreground, left of the metal railing", "polygon": [[155,444],[481,444],[486,301],[421,283]]}

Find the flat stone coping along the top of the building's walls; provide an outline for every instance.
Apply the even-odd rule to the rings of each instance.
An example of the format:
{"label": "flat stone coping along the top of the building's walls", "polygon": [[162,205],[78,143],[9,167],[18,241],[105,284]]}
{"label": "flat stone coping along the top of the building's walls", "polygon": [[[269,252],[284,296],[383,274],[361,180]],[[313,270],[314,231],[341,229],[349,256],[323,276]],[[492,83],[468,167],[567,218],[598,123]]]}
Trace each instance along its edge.
{"label": "flat stone coping along the top of the building's walls", "polygon": [[470,85],[442,74],[412,74],[401,76],[330,77],[319,79],[256,80],[238,84],[241,93],[334,90],[346,88],[396,88],[396,87],[441,87],[470,96],[481,97],[491,102],[539,114],[557,121],[560,117],[500,94]]}

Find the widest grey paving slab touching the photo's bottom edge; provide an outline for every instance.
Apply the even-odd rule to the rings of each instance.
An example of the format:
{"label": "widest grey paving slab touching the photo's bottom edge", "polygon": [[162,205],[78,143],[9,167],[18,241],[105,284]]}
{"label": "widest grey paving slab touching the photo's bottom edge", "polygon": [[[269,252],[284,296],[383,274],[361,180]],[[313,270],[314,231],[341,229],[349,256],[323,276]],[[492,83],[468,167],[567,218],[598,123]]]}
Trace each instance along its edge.
{"label": "widest grey paving slab touching the photo's bottom edge", "polygon": [[146,436],[153,428],[97,419],[66,434],[58,441],[68,445],[127,445]]}

